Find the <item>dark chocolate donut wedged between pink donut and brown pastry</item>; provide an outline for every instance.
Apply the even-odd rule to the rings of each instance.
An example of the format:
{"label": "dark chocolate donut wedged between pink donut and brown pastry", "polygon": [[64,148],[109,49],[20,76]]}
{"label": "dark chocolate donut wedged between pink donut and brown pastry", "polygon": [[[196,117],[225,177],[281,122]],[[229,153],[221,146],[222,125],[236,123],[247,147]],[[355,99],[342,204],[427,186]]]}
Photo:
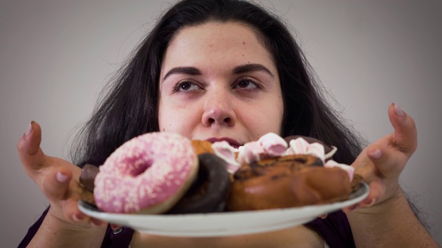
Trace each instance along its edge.
{"label": "dark chocolate donut wedged between pink donut and brown pastry", "polygon": [[227,164],[215,154],[198,155],[200,169],[191,188],[166,214],[224,211],[231,182]]}

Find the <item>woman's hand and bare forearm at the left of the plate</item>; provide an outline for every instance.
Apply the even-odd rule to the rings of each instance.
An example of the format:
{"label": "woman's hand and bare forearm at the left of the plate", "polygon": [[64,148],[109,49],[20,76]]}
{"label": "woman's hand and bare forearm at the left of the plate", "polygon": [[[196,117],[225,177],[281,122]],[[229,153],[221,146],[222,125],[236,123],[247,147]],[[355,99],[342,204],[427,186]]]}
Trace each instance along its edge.
{"label": "woman's hand and bare forearm at the left of the plate", "polygon": [[81,169],[68,161],[46,156],[40,148],[41,127],[31,122],[17,144],[26,174],[50,203],[50,210],[29,247],[100,247],[105,224],[77,207]]}

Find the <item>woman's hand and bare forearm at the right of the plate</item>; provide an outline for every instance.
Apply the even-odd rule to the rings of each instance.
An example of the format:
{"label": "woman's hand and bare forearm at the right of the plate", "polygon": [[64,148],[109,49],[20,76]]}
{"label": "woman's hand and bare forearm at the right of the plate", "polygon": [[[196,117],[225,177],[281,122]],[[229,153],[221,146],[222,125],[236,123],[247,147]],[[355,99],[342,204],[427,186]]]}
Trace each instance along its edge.
{"label": "woman's hand and bare forearm at the right of the plate", "polygon": [[416,125],[394,103],[388,107],[388,116],[394,132],[365,148],[352,164],[370,187],[365,200],[344,209],[356,247],[439,247],[414,216],[398,185],[417,147]]}

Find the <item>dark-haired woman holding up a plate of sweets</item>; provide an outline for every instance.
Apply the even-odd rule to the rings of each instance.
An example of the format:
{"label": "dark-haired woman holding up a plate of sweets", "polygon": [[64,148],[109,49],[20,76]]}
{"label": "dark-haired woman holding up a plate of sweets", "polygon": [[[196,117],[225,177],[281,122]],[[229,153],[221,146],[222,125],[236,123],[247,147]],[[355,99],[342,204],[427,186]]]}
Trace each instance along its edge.
{"label": "dark-haired woman holding up a plate of sweets", "polygon": [[[359,204],[361,208],[346,209],[347,216],[338,212],[307,226],[269,234],[164,238],[125,229],[118,236],[106,231],[106,223],[77,209],[79,167],[45,156],[39,149],[40,127],[31,123],[19,141],[19,153],[51,207],[22,245],[32,239],[30,244],[45,247],[119,247],[131,240],[133,247],[313,247],[321,246],[323,238],[332,247],[435,245],[397,182],[416,149],[412,118],[391,105],[394,134],[361,151],[357,137],[316,90],[287,28],[258,6],[216,0],[175,4],[111,87],[83,130],[76,164],[101,165],[124,141],[146,132],[233,138],[238,144],[267,132],[302,134],[338,147],[336,161],[352,164],[369,183],[370,194]],[[414,235],[407,234],[410,231]]]}

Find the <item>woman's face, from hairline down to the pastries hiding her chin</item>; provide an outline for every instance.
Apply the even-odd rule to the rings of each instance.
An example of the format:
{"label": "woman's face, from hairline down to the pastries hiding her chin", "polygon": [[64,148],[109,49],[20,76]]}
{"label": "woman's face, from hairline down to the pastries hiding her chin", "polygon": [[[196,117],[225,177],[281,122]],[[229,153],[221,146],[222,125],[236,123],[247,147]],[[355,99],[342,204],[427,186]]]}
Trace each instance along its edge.
{"label": "woman's face, from hairline down to the pastries hiding her chin", "polygon": [[234,147],[280,134],[282,93],[271,54],[239,23],[180,30],[162,63],[158,114],[161,131]]}

